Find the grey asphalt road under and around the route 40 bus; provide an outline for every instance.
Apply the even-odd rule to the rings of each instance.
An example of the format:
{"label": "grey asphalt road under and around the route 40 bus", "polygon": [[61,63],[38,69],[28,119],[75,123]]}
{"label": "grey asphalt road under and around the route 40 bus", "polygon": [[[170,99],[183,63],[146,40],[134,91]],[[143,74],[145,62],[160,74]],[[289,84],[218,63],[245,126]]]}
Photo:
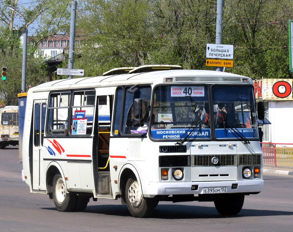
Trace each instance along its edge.
{"label": "grey asphalt road under and around the route 40 bus", "polygon": [[0,231],[293,231],[293,176],[264,174],[264,190],[245,196],[237,216],[213,202],[160,202],[152,218],[133,218],[119,200],[90,200],[84,212],[58,212],[21,180],[17,147],[0,149]]}

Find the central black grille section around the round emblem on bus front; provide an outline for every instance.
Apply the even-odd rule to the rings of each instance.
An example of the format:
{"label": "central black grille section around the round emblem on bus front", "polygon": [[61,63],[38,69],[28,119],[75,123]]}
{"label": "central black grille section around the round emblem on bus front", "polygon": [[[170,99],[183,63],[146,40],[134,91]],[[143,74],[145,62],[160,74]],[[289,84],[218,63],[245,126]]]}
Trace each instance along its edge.
{"label": "central black grille section around the round emblem on bus front", "polygon": [[[213,157],[218,158],[218,163],[213,164]],[[237,155],[193,155],[191,167],[201,166],[237,166]]]}

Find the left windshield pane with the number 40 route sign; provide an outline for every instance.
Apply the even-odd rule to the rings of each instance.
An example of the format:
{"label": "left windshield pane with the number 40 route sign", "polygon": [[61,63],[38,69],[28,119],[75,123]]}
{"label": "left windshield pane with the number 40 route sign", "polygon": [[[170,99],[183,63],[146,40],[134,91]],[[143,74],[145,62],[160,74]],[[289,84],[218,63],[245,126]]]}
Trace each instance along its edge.
{"label": "left windshield pane with the number 40 route sign", "polygon": [[154,90],[151,137],[209,139],[209,114],[207,86],[158,86]]}

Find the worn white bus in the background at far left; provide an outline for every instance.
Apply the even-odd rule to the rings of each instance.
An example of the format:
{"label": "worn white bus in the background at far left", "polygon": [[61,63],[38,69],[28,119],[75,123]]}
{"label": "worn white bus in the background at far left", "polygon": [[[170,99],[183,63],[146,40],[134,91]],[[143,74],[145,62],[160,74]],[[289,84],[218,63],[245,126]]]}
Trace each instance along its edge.
{"label": "worn white bus in the background at far left", "polygon": [[18,145],[18,106],[0,109],[0,148]]}

